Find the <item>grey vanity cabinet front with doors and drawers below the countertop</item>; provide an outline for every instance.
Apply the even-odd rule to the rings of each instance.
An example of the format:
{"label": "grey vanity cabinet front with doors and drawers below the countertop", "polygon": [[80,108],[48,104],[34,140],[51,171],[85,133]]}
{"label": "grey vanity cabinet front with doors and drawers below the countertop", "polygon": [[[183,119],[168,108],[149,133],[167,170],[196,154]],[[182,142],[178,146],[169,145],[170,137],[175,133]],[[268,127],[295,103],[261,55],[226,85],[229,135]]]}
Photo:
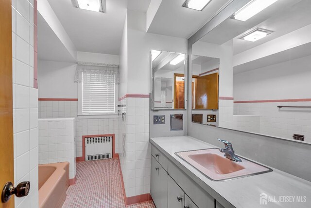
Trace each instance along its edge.
{"label": "grey vanity cabinet front with doors and drawers below the countertop", "polygon": [[157,208],[224,208],[155,146],[150,193]]}

